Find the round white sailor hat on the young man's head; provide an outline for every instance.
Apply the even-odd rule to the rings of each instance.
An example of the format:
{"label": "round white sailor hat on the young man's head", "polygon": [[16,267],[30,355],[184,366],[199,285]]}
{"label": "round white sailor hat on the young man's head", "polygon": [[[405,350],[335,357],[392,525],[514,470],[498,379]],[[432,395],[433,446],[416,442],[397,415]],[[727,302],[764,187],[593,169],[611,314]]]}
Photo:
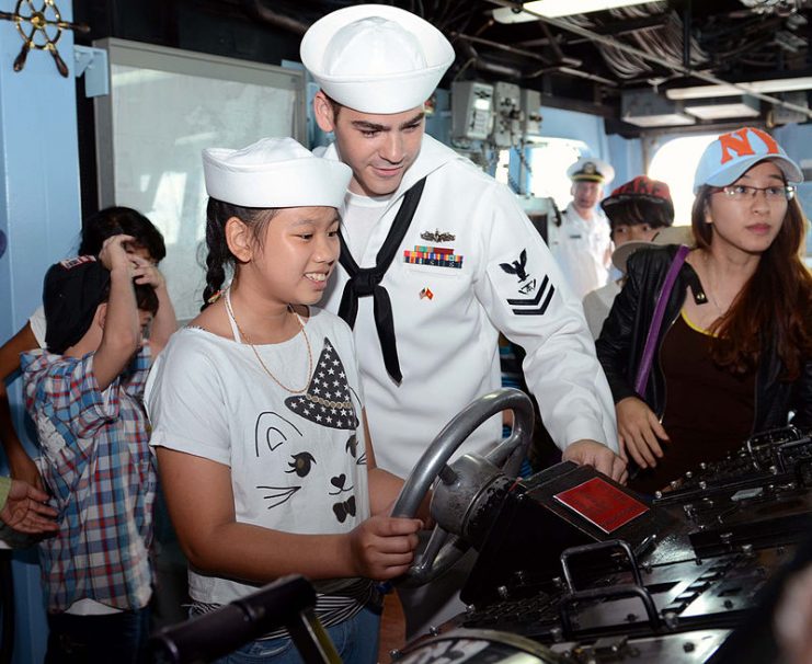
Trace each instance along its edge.
{"label": "round white sailor hat on the young man's head", "polygon": [[420,16],[386,4],[329,13],[301,39],[301,61],[324,93],[362,113],[421,106],[454,61],[454,48]]}

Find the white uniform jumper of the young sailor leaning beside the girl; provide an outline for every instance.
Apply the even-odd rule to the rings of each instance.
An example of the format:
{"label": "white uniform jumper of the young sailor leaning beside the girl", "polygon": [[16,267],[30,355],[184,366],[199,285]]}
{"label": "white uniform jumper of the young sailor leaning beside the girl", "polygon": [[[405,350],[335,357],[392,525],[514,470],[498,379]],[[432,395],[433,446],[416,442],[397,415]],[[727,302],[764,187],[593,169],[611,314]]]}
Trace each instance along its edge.
{"label": "white uniform jumper of the young sailor leaning beside the girl", "polygon": [[[338,159],[335,146],[325,158]],[[373,298],[355,322],[362,385],[378,466],[405,477],[439,430],[468,403],[500,387],[498,335],[527,352],[524,371],[553,439],[617,449],[615,408],[595,357],[581,302],[516,197],[430,136],[371,229],[361,267],[375,265],[401,199],[428,175],[411,226],[381,285],[392,305],[398,385],[384,366]],[[342,232],[354,248],[351,204]],[[324,300],[338,311],[347,275],[336,267]],[[493,417],[462,451],[485,453],[501,438]],[[460,453],[461,454],[461,453]]]}

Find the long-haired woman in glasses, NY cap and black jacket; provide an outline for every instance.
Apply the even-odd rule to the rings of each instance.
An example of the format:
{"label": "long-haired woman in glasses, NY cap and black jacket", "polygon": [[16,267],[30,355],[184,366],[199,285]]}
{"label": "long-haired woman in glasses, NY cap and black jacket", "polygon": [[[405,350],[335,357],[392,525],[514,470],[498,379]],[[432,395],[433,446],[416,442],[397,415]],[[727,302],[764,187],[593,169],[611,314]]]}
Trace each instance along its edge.
{"label": "long-haired woman in glasses, NY cap and black jacket", "polygon": [[697,248],[667,300],[651,376],[632,388],[676,248],[641,250],[597,341],[621,449],[653,493],[753,433],[812,425],[812,276],[801,261],[803,176],[766,133],[744,127],[706,149],[691,226]]}

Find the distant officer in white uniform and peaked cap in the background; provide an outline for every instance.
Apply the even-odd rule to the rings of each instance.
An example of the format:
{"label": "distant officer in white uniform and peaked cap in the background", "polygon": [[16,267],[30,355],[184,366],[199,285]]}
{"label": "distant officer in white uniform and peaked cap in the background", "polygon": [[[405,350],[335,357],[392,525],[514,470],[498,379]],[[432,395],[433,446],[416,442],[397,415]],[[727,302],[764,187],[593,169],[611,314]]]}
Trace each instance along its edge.
{"label": "distant officer in white uniform and peaked cap in the background", "polygon": [[548,242],[570,287],[583,298],[609,277],[609,222],[598,202],[615,170],[601,159],[582,157],[567,175],[572,180],[572,201],[561,213],[561,224],[550,227]]}

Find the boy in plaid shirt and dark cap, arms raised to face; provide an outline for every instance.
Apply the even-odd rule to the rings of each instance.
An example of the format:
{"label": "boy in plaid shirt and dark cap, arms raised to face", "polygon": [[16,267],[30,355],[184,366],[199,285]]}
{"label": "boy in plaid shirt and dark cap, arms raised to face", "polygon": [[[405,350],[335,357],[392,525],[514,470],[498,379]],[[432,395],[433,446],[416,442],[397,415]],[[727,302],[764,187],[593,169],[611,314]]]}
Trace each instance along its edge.
{"label": "boy in plaid shirt and dark cap, arms raised to face", "polygon": [[142,332],[162,278],[127,253],[129,236],[45,276],[47,351],[22,355],[25,405],[59,531],[39,545],[46,664],[138,662],[152,593],[156,466],[142,407],[158,348]]}

